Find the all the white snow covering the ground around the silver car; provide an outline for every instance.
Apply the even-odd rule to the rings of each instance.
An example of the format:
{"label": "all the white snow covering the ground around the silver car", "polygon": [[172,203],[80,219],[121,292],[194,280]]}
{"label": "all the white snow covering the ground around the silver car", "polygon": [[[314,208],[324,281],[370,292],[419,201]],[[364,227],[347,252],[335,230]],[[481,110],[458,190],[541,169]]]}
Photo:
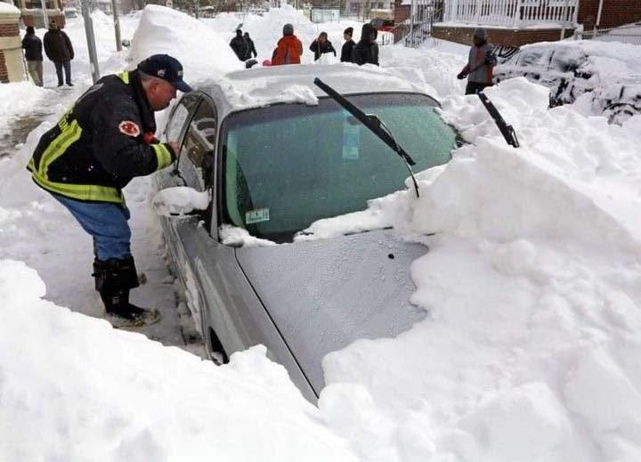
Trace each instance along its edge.
{"label": "all the white snow covering the ground around the silver car", "polygon": [[[155,52],[149,37],[190,62],[188,82],[238,65],[226,45],[240,22],[231,14],[203,20],[208,30],[161,7],[128,16],[135,59],[113,53],[109,18],[94,18],[103,72]],[[337,48],[347,25],[360,30],[317,26],[288,7],[243,22],[259,61],[286,22],[305,49],[321,30]],[[82,48],[81,22],[68,32]],[[487,90],[522,143],[508,147],[480,101],[462,96],[461,49],[442,47],[383,47],[382,68],[433,88],[467,144],[447,166],[418,174],[420,199],[410,188],[312,225],[331,236],[392,224],[402,239],[428,245],[411,266],[412,302],[428,315],[397,338],[326,356],[318,407],[261,347],[218,368],[56,306],[99,316],[90,239],[24,165],[89,85],[80,75],[86,51],[74,66],[83,85],[71,92],[0,86],[7,116],[33,106],[53,114],[0,161],[0,460],[639,460],[641,117],[609,126],[569,107],[547,109],[546,88],[508,80]],[[134,292],[163,308],[155,336],[182,345],[152,193],[149,179],[126,189],[134,255],[149,280]]]}

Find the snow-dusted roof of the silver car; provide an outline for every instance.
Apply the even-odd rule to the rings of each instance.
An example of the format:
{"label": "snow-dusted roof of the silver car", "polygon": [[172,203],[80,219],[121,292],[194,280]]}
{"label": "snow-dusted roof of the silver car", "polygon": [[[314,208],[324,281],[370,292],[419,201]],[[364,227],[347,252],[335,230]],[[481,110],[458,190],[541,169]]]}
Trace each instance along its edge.
{"label": "snow-dusted roof of the silver car", "polygon": [[299,64],[267,66],[231,72],[194,85],[195,89],[215,99],[219,119],[243,109],[280,103],[315,105],[327,96],[314,85],[315,77],[341,94],[356,93],[425,93],[402,77],[385,69],[337,64]]}

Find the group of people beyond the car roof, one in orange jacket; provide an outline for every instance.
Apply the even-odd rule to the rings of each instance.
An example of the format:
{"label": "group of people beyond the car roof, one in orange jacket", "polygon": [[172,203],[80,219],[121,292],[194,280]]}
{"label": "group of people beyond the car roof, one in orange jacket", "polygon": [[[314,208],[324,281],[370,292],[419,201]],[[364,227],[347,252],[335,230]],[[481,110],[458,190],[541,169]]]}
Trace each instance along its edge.
{"label": "group of people beyond the car roof, one in orange jacket", "polygon": [[[378,65],[377,29],[369,23],[364,24],[361,30],[361,40],[358,43],[353,41],[352,36],[353,28],[346,28],[343,33],[345,44],[341,49],[340,61],[359,65],[368,63]],[[247,67],[256,64],[252,55],[256,58],[258,53],[256,53],[254,41],[249,38],[247,32],[243,34],[241,29],[237,29],[236,36],[231,39],[230,46],[238,59],[247,63]],[[314,61],[320,60],[321,56],[326,53],[334,53],[334,56],[337,56],[337,50],[329,41],[327,32],[321,32],[318,37],[314,38],[309,50],[314,53]],[[303,44],[294,35],[294,26],[285,24],[282,29],[282,37],[273,50],[272,59],[263,61],[263,64],[266,66],[300,64],[302,55]]]}

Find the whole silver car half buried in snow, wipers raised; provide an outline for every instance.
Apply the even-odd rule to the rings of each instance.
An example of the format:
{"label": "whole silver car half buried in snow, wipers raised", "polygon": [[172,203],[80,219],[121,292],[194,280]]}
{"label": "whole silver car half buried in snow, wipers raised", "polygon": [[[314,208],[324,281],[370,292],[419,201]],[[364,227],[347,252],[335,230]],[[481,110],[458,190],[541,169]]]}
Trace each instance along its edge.
{"label": "whole silver car half buried in snow, wipers raised", "polygon": [[[317,76],[377,115],[416,171],[450,160],[457,134],[416,86],[353,66],[297,65],[234,72],[183,95],[165,134],[181,156],[158,175],[160,189],[210,193],[207,210],[161,218],[207,353],[264,344],[311,401],[325,354],[423,319],[410,304],[410,263],[427,252],[388,228],[331,239],[304,231],[404,189],[408,176],[394,150],[313,85]],[[277,245],[225,244],[230,227]]]}

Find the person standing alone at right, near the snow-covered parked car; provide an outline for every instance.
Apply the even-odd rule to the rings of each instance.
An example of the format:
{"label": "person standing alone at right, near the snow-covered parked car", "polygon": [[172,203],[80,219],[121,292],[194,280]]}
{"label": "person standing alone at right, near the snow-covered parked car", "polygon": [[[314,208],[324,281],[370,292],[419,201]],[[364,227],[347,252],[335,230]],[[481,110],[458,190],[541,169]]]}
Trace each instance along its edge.
{"label": "person standing alone at right, near the snow-covered parked car", "polygon": [[466,94],[479,93],[486,86],[491,86],[497,63],[496,56],[492,53],[494,47],[488,43],[484,28],[476,28],[472,40],[474,45],[470,48],[467,65],[457,76],[459,80],[467,77]]}

